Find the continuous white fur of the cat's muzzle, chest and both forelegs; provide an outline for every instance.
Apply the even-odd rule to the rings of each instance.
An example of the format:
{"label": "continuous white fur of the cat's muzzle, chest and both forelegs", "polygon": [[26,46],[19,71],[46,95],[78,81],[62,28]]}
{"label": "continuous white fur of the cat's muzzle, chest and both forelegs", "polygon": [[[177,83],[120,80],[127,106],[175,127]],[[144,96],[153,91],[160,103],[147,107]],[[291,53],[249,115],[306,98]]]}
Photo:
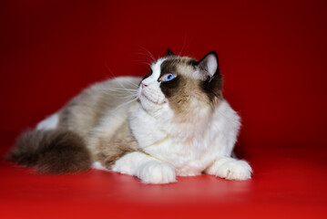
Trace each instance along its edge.
{"label": "continuous white fur of the cat's muzzle, chest and both forelegs", "polygon": [[163,61],[152,65],[153,74],[143,81],[147,87],[138,89],[141,103],[135,103],[129,112],[130,129],[147,154],[129,153],[112,170],[138,176],[145,183],[172,183],[175,175],[203,171],[230,180],[250,179],[250,165],[230,157],[240,129],[239,115],[223,100],[213,114],[209,108],[199,108],[199,113],[189,118],[194,122],[191,127],[174,123],[174,112],[159,89]]}

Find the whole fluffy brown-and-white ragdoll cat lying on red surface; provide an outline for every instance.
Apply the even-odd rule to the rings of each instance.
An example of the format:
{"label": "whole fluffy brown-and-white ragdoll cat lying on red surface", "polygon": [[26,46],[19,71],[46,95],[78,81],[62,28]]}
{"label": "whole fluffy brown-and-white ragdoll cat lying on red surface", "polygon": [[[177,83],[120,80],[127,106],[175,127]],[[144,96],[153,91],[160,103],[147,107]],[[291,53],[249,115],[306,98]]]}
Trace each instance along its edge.
{"label": "whole fluffy brown-and-white ragdoll cat lying on red surface", "polygon": [[119,77],[85,89],[36,130],[26,131],[9,160],[43,173],[91,167],[173,183],[202,172],[251,177],[231,157],[240,117],[221,93],[218,57],[179,57],[168,50],[145,78]]}

